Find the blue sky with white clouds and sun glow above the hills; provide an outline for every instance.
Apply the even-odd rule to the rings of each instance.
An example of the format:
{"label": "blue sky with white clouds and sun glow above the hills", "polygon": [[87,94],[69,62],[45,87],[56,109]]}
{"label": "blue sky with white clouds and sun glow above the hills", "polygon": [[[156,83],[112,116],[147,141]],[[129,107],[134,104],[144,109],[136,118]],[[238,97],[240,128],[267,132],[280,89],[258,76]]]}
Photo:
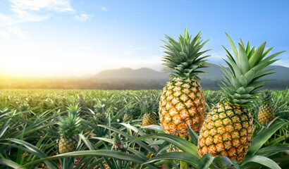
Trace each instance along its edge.
{"label": "blue sky with white clouds and sun glow above the hills", "polygon": [[185,27],[210,39],[211,63],[223,63],[243,42],[287,51],[276,65],[289,67],[289,1],[0,1],[1,75],[86,75],[105,69],[161,70],[164,35]]}

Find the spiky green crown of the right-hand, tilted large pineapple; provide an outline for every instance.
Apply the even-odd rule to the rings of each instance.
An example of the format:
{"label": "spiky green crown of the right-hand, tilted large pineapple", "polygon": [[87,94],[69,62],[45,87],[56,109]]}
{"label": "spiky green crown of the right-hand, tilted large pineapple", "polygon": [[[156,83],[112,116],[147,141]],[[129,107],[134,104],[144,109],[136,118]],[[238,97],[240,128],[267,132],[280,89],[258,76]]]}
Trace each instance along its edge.
{"label": "spiky green crown of the right-hand, tilted large pineapple", "polygon": [[273,69],[264,70],[264,68],[278,61],[278,59],[273,58],[282,54],[284,51],[265,57],[266,54],[273,49],[269,48],[264,51],[266,42],[255,50],[254,47],[250,49],[249,42],[245,47],[242,40],[240,40],[237,50],[232,39],[230,39],[228,35],[227,37],[233,49],[234,57],[223,46],[228,57],[228,61],[224,59],[223,61],[226,62],[228,68],[221,65],[225,76],[223,76],[220,87],[226,96],[226,100],[231,104],[235,106],[250,106],[247,104],[256,99],[257,89],[264,87],[264,84],[269,81],[259,79],[272,74],[271,70]]}

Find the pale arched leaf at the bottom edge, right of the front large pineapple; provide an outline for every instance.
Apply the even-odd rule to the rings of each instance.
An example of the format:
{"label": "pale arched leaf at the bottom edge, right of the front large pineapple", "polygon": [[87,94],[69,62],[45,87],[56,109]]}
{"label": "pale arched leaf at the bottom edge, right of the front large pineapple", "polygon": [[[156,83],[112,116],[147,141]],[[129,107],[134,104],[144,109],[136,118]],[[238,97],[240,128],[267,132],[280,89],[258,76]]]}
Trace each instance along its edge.
{"label": "pale arched leaf at the bottom edge, right of the front large pineapple", "polygon": [[246,156],[244,161],[240,163],[240,167],[242,168],[246,163],[259,163],[261,165],[266,166],[267,168],[271,169],[281,169],[275,161],[271,160],[270,158],[266,158],[264,156]]}

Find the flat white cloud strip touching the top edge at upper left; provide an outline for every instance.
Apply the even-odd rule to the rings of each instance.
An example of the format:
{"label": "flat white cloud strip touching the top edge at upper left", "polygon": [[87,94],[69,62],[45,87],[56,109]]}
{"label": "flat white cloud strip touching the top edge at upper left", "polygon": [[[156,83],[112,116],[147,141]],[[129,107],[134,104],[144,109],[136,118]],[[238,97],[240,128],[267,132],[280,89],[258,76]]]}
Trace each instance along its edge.
{"label": "flat white cloud strip touching the top edge at upper left", "polygon": [[68,0],[10,0],[12,11],[39,11],[47,9],[49,11],[73,12]]}

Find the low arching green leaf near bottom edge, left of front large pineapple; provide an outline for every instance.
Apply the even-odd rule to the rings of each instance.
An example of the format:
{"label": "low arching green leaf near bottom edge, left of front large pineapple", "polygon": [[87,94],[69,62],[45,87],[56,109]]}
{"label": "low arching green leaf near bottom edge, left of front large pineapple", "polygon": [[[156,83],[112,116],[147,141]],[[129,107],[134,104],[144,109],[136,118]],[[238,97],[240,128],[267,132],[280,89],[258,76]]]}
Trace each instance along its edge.
{"label": "low arching green leaf near bottom edge, left of front large pineapple", "polygon": [[146,163],[152,163],[155,161],[162,161],[162,160],[176,160],[176,161],[184,161],[186,163],[189,163],[190,165],[193,165],[194,167],[197,167],[199,164],[199,158],[196,156],[185,153],[185,152],[170,152],[166,154],[159,154],[158,156],[155,156],[153,158],[150,158]]}

